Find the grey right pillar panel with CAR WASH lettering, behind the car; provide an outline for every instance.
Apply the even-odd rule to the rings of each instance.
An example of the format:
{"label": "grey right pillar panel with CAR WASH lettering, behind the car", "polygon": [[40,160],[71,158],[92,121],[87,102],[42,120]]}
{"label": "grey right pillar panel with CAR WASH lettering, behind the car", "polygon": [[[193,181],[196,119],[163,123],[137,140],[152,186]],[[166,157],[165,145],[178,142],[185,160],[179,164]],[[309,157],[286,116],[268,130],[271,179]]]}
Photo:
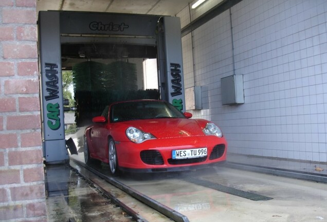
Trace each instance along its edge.
{"label": "grey right pillar panel with CAR WASH lettering, behind the car", "polygon": [[168,100],[180,112],[185,112],[183,56],[179,17],[163,17],[167,70]]}

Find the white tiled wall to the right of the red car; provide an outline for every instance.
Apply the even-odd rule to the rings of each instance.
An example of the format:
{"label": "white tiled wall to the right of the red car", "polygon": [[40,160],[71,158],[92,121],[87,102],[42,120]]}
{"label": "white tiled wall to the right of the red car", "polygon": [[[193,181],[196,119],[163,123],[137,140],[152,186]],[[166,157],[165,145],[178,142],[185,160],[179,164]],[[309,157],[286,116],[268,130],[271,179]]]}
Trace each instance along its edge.
{"label": "white tiled wall to the right of the red car", "polygon": [[[185,87],[202,86],[194,117],[219,124],[230,153],[326,162],[326,21],[325,0],[243,0],[193,31],[194,67],[191,34],[184,36]],[[233,75],[231,25],[245,103],[223,106],[220,79]]]}

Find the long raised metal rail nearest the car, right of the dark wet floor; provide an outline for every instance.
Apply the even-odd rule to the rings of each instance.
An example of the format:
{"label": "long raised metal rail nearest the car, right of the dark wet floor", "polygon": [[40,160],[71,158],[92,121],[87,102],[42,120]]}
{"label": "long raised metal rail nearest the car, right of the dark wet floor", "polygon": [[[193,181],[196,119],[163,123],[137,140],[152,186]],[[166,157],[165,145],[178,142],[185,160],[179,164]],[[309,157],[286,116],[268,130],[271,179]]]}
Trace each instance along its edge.
{"label": "long raised metal rail nearest the car, right of the dark wet floor", "polygon": [[[92,172],[93,174],[97,175],[98,177],[104,179],[105,181],[107,181],[108,183],[112,184],[113,186],[117,187],[118,189],[124,191],[125,193],[133,196],[135,199],[139,200],[140,202],[142,202],[143,204],[148,205],[149,207],[155,209],[156,211],[158,211],[159,213],[167,216],[168,218],[176,221],[176,222],[189,222],[189,219],[187,218],[187,216],[180,214],[179,212],[167,207],[166,205],[162,205],[160,202],[152,199],[151,197],[148,197],[138,191],[136,191],[135,189],[126,186],[125,184],[121,183],[120,181],[109,177],[107,175],[102,174],[101,172],[88,167],[88,165],[86,165],[85,163],[78,161],[76,159],[71,158],[70,161],[74,161],[76,164],[80,165],[81,167],[87,169],[88,171]],[[128,208],[126,206],[126,208]],[[132,210],[132,209],[131,209]],[[132,210],[133,211],[133,210]],[[128,212],[128,210],[126,210],[126,212]],[[132,213],[131,213],[132,215]],[[139,218],[142,219],[140,221],[146,221],[143,220],[143,218]]]}

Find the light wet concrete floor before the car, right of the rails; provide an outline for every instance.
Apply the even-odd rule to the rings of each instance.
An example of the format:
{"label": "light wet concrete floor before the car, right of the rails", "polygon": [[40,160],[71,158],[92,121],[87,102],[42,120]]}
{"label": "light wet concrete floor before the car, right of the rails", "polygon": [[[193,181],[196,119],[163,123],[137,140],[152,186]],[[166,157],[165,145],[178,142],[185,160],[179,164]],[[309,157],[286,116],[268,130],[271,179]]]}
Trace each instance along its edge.
{"label": "light wet concrete floor before the car, right of the rails", "polygon": [[[196,177],[273,199],[252,201],[180,180]],[[190,221],[327,220],[327,185],[227,168],[125,184],[186,215]]]}

